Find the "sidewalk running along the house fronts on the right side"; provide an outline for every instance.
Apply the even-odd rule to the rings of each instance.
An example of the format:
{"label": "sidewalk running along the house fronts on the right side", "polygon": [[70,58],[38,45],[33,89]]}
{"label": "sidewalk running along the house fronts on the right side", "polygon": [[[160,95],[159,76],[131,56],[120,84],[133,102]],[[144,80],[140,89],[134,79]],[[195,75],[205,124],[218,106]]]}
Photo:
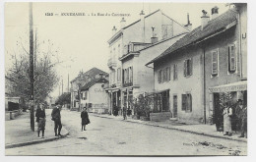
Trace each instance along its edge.
{"label": "sidewalk running along the house fronts on the right side", "polygon": [[[93,114],[93,113],[90,113],[90,115],[94,115],[100,118],[108,118],[108,119],[123,121],[122,116],[114,117],[108,114]],[[180,124],[173,121],[165,121],[165,122],[141,121],[141,120],[134,120],[131,117],[128,117],[127,120],[125,120],[124,122],[138,123],[138,124],[160,127],[160,128],[169,129],[169,130],[177,130],[177,131],[187,132],[187,133],[196,134],[196,135],[207,135],[211,137],[221,137],[225,139],[247,142],[247,138],[238,137],[240,135],[239,133],[233,133],[233,135],[231,136],[226,136],[223,133],[217,132],[215,125],[202,125],[202,124],[184,125],[184,124]]]}

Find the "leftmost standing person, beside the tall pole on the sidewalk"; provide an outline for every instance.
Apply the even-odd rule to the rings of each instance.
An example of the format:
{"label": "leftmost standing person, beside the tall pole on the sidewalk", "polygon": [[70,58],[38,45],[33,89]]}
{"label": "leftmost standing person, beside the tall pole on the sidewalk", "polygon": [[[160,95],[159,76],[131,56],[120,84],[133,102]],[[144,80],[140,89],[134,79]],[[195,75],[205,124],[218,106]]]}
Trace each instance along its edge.
{"label": "leftmost standing person, beside the tall pole on the sidewalk", "polygon": [[44,130],[45,130],[45,111],[43,109],[43,105],[40,103],[37,105],[37,109],[35,112],[36,122],[37,122],[37,135],[38,138],[40,137],[40,131],[41,131],[41,137],[44,138]]}

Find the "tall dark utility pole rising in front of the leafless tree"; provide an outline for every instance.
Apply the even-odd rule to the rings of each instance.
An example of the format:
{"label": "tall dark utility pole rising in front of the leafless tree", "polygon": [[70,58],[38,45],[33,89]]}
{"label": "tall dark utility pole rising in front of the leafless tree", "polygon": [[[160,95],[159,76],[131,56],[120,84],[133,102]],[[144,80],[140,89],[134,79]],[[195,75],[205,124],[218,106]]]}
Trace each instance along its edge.
{"label": "tall dark utility pole rising in front of the leafless tree", "polygon": [[32,2],[30,3],[30,80],[31,80],[31,97],[30,97],[30,110],[31,110],[31,129],[34,132],[34,101],[33,101],[33,32],[32,32]]}

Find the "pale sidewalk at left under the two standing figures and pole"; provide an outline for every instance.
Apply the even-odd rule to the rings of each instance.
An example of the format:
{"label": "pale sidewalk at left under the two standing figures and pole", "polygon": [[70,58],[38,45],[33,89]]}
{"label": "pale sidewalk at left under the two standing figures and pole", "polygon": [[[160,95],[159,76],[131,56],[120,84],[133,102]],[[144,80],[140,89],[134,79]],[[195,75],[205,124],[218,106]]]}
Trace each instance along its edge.
{"label": "pale sidewalk at left under the two standing figures and pole", "polygon": [[[5,121],[5,148],[13,148],[58,139],[54,134],[54,122],[51,121],[51,109],[46,109],[45,138],[37,138],[37,123],[34,123],[34,132],[31,130],[29,112],[23,112],[15,120]],[[34,118],[35,120],[35,118]],[[61,137],[66,137],[68,131],[62,127]],[[40,133],[41,136],[41,133]]]}

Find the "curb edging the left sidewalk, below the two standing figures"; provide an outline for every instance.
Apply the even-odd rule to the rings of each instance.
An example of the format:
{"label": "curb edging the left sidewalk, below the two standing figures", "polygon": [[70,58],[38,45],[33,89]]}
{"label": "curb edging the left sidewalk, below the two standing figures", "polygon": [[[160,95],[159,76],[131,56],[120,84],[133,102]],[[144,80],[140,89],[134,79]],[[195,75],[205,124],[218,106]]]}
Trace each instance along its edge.
{"label": "curb edging the left sidewalk, below the two standing figures", "polygon": [[69,132],[65,135],[60,136],[60,137],[54,136],[54,137],[44,138],[44,139],[39,139],[39,140],[32,140],[32,141],[14,143],[14,144],[7,144],[7,145],[5,145],[5,149],[15,148],[15,147],[22,147],[22,146],[32,145],[32,144],[38,144],[38,143],[47,142],[47,141],[53,141],[53,140],[57,140],[57,139],[60,139],[60,138],[67,137],[68,135],[69,135]]}

